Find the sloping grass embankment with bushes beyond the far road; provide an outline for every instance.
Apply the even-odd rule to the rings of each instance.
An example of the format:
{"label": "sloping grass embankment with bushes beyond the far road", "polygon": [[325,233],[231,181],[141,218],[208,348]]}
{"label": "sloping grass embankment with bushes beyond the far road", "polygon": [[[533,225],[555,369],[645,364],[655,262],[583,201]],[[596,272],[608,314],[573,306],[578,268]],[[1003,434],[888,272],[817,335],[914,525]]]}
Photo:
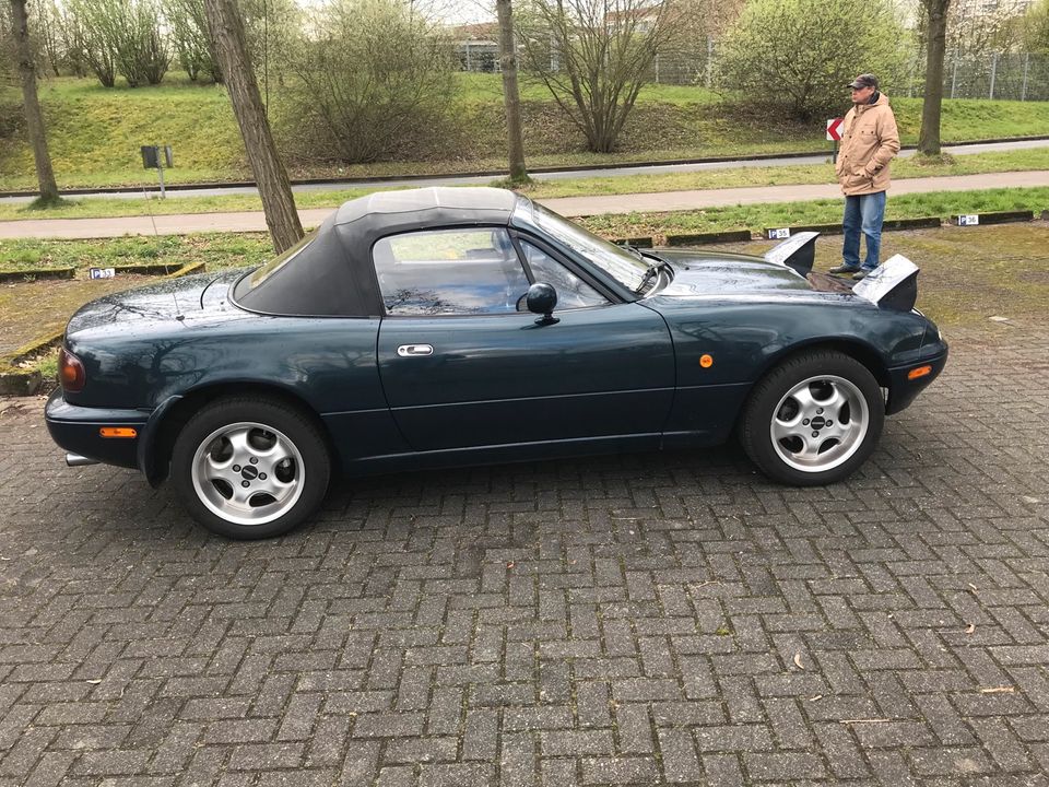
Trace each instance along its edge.
{"label": "sloping grass embankment with bushes beyond the far road", "polygon": [[[168,143],[176,167],[172,183],[249,179],[250,171],[225,90],[198,85],[175,72],[156,86],[102,87],[71,78],[40,86],[48,139],[59,186],[140,186],[155,173],[141,166],[139,146]],[[19,97],[0,87],[0,113],[16,115]],[[579,132],[541,85],[523,87],[526,152],[532,167],[610,162],[667,161],[749,153],[826,150],[823,124],[801,126],[757,119],[746,102],[728,104],[697,86],[649,85],[638,98],[614,154],[588,153]],[[905,144],[917,141],[918,98],[894,99]],[[842,105],[842,111],[847,108]],[[505,128],[498,74],[459,74],[451,121],[428,157],[340,166],[286,156],[293,177],[364,177],[503,171]],[[274,101],[274,126],[284,144],[294,126]],[[945,143],[1045,134],[1049,103],[956,99],[943,105]],[[32,153],[21,128],[0,138],[0,190],[35,186]]]}

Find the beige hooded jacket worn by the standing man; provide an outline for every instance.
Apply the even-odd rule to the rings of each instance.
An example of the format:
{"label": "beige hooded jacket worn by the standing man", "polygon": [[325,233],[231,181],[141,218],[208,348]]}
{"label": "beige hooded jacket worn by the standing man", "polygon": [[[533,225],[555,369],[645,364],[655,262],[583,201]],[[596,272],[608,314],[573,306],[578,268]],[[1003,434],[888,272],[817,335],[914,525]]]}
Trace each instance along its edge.
{"label": "beige hooded jacket worn by the standing man", "polygon": [[874,104],[853,106],[841,124],[841,149],[834,171],[848,197],[888,188],[888,163],[899,152],[896,117],[882,93]]}

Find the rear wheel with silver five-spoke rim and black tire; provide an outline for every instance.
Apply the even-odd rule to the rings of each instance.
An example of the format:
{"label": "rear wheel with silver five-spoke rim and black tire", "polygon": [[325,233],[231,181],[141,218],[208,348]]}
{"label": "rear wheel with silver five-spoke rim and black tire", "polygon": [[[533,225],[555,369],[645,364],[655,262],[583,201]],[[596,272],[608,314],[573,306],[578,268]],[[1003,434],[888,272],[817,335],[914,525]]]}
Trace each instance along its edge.
{"label": "rear wheel with silver five-spoke rim and black tire", "polygon": [[172,482],[186,509],[232,539],[288,532],[321,504],[330,475],[320,430],[274,399],[210,402],[182,427],[172,451]]}

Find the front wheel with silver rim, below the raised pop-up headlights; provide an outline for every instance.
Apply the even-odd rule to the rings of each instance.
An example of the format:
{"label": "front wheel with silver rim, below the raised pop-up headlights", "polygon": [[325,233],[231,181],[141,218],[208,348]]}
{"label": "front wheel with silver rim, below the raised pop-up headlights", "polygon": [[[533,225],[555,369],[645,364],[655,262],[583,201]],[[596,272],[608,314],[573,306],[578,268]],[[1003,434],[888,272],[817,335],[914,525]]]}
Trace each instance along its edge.
{"label": "front wheel with silver rim, below the raised pop-up headlights", "polygon": [[774,481],[821,486],[867,461],[884,423],[874,375],[844,353],[813,350],[786,360],[754,386],[740,439]]}

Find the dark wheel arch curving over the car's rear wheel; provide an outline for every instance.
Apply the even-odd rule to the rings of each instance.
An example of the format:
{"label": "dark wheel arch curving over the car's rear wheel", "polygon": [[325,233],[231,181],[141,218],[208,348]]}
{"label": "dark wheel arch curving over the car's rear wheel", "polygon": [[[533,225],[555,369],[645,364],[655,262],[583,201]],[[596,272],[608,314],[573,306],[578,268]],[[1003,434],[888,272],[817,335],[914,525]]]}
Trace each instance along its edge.
{"label": "dark wheel arch curving over the car's rear wheel", "polygon": [[310,419],[325,438],[325,450],[334,468],[339,461],[339,453],[334,450],[331,434],[323,419],[317,411],[294,391],[278,385],[267,383],[216,383],[193,389],[180,397],[166,400],[155,411],[157,422],[148,430],[146,441],[142,446],[140,465],[151,485],[160,485],[170,471],[172,451],[175,439],[189,420],[202,408],[216,399],[224,397],[252,397],[278,401],[294,408]]}

